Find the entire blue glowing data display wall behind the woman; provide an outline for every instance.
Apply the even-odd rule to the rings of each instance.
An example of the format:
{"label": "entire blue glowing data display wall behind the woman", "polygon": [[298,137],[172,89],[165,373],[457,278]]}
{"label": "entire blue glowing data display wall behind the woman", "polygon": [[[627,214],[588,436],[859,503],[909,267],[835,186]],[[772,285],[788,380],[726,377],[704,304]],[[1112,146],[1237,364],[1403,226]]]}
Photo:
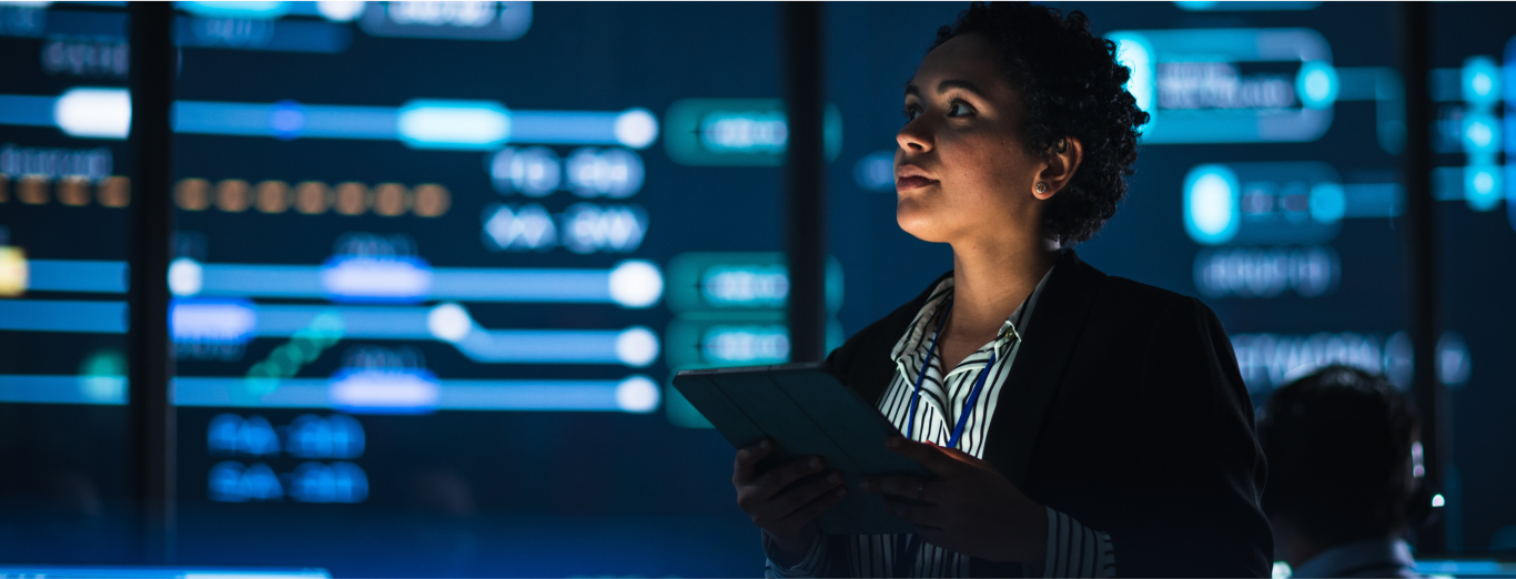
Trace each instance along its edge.
{"label": "entire blue glowing data display wall behind the woman", "polygon": [[[1395,6],[1060,5],[1154,118],[1081,256],[1205,300],[1258,405],[1325,364],[1408,385]],[[176,6],[182,562],[763,573],[732,449],[669,379],[790,358],[779,3]],[[896,226],[891,164],[901,85],[963,8],[826,3],[829,347],[952,267]],[[1434,12],[1443,511],[1454,553],[1499,553],[1516,8]],[[0,0],[0,458],[35,473],[0,506],[62,521],[0,517],[6,561],[126,558],[126,30],[123,2]]]}

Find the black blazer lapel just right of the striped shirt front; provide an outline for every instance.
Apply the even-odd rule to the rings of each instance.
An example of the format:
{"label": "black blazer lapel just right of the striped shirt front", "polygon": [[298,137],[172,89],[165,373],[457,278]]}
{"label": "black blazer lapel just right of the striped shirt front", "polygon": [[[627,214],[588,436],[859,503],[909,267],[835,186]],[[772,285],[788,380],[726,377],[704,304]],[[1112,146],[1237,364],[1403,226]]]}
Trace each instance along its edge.
{"label": "black blazer lapel just right of the striped shirt front", "polygon": [[1067,250],[1037,299],[1031,327],[1001,388],[984,446],[984,459],[1016,487],[1026,485],[1043,417],[1104,279],[1104,273]]}

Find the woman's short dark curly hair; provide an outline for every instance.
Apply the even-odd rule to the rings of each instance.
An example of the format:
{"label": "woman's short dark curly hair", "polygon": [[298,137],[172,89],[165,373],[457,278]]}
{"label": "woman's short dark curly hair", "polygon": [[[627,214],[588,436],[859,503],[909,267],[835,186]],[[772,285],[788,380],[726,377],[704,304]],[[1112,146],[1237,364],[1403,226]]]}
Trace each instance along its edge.
{"label": "woman's short dark curly hair", "polygon": [[1116,42],[1090,32],[1090,18],[1079,11],[1064,15],[1026,0],[975,0],[937,30],[932,49],[967,33],[990,41],[1020,92],[1029,150],[1048,152],[1066,136],[1084,144],[1084,159],[1048,205],[1043,227],[1064,246],[1090,239],[1126,197],[1137,127],[1148,123],[1126,92],[1131,71],[1116,62]]}

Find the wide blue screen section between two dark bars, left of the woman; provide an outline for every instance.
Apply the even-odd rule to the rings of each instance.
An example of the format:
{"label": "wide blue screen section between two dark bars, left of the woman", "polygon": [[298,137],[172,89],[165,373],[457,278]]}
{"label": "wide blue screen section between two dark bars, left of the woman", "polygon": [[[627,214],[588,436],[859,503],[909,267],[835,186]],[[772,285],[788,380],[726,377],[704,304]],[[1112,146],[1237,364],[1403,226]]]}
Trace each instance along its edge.
{"label": "wide blue screen section between two dark bars, left of the woman", "polygon": [[179,549],[760,568],[664,391],[785,356],[778,6],[226,6],[177,30]]}

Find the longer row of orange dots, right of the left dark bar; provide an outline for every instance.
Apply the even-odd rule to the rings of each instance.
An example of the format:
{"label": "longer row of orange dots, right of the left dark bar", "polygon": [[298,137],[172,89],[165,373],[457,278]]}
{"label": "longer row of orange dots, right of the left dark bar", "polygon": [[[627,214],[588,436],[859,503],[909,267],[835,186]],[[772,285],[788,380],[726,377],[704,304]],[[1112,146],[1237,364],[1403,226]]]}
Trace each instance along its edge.
{"label": "longer row of orange dots, right of the left dark bar", "polygon": [[282,180],[264,180],[252,185],[241,179],[223,179],[214,185],[205,179],[182,179],[174,186],[174,203],[185,211],[217,208],[224,212],[255,209],[262,214],[282,214],[290,209],[305,215],[320,215],[334,211],[341,215],[440,217],[452,206],[446,186],[437,183],[406,188],[400,183],[379,183],[370,188],[358,182],[327,186],[318,180],[296,183],[293,188]]}

